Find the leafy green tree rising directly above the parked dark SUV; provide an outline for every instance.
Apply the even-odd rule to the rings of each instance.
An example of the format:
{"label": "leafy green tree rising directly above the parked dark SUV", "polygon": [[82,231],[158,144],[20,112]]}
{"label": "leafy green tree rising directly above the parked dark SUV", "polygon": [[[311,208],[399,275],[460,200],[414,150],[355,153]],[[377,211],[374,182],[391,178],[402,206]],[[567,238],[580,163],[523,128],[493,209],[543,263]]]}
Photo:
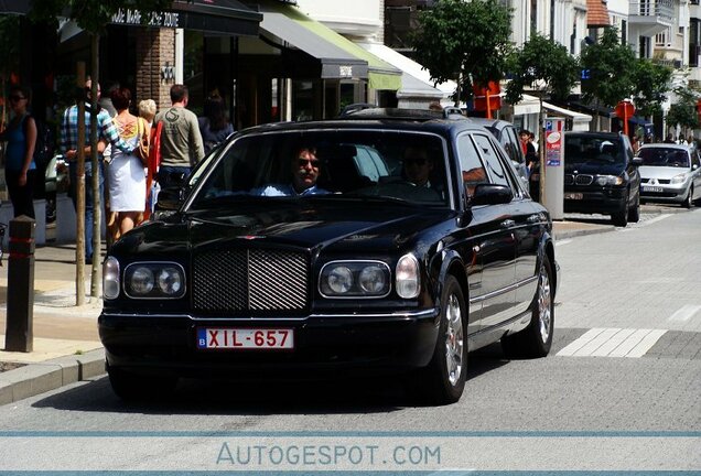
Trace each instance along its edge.
{"label": "leafy green tree rising directly above the parked dark SUV", "polygon": [[582,98],[606,107],[636,93],[636,58],[627,44],[623,44],[615,26],[604,29],[601,39],[586,46],[580,55],[582,68]]}

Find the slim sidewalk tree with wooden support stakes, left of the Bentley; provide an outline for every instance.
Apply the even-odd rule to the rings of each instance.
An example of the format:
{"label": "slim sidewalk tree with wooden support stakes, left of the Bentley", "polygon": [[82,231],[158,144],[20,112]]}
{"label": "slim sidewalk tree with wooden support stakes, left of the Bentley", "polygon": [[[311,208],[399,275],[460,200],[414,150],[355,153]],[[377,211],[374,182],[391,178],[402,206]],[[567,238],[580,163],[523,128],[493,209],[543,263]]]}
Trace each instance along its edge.
{"label": "slim sidewalk tree with wooden support stakes, left of the Bentley", "polygon": [[[148,24],[151,12],[170,8],[171,0],[33,0],[30,18],[41,22],[54,22],[57,24],[58,18],[67,18],[73,20],[80,26],[90,37],[90,63],[91,63],[91,116],[90,116],[90,162],[93,170],[98,170],[97,155],[97,86],[99,82],[99,40],[106,31],[107,24],[119,10],[134,10],[141,14],[142,23]],[[82,85],[80,85],[82,86]],[[83,102],[78,101],[78,108],[83,110]],[[78,113],[82,118],[83,115]],[[78,148],[78,176],[84,177],[85,174],[85,156],[83,149]],[[93,249],[99,255],[100,250],[100,205],[99,194],[99,176],[93,174],[93,196],[95,198],[91,224],[84,224],[85,217],[85,182],[78,180],[76,204],[77,215],[77,232],[76,232],[76,305],[84,303],[85,291],[83,289],[83,257],[85,256],[85,241],[83,240],[83,226],[93,227]],[[100,282],[100,261],[93,259],[93,269],[90,275],[90,295],[99,296]]]}

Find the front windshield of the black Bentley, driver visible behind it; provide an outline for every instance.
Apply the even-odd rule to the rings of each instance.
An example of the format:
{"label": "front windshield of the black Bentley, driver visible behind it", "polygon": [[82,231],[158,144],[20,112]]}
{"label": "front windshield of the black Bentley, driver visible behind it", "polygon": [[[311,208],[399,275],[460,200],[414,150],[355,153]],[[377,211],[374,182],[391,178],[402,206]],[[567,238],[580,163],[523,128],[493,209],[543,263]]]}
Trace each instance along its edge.
{"label": "front windshield of the black Bentley, driver visible behind it", "polygon": [[244,136],[203,173],[190,208],[231,199],[387,198],[446,205],[443,140],[409,131],[279,131]]}

